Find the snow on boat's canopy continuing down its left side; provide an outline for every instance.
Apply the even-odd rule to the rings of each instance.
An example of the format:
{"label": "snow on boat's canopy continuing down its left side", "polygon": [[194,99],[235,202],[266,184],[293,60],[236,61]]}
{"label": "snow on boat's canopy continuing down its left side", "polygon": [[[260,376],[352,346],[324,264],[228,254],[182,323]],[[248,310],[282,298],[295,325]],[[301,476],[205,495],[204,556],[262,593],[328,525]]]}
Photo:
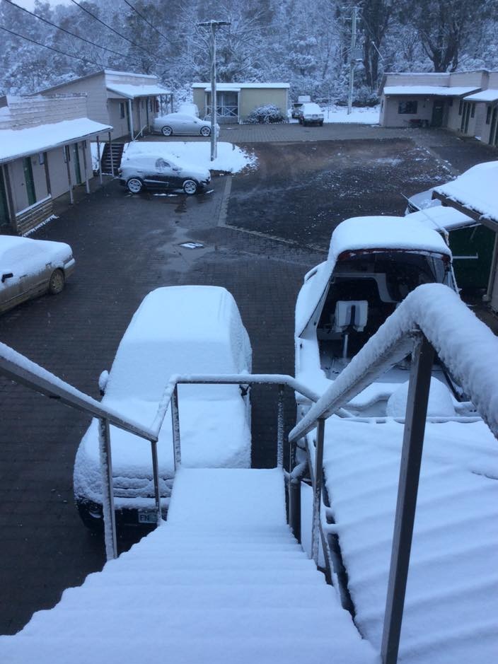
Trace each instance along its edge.
{"label": "snow on boat's canopy continuing down its left side", "polygon": [[[345,251],[387,250],[426,251],[451,256],[451,250],[439,233],[406,217],[363,216],[346,219],[337,226],[330,239],[328,258],[315,268],[299,292],[296,304],[296,334],[302,334],[318,306],[337,257]],[[311,275],[310,275],[311,276]]]}

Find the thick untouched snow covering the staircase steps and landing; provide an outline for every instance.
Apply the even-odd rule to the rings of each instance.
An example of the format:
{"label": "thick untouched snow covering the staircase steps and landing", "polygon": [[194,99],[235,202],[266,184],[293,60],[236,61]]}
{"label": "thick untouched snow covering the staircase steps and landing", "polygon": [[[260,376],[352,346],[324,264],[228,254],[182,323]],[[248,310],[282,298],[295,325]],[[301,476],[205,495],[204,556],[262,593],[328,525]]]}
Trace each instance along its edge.
{"label": "thick untouched snow covering the staircase steps and landing", "polygon": [[378,661],[285,523],[279,470],[180,470],[168,521],[0,637],[8,664]]}

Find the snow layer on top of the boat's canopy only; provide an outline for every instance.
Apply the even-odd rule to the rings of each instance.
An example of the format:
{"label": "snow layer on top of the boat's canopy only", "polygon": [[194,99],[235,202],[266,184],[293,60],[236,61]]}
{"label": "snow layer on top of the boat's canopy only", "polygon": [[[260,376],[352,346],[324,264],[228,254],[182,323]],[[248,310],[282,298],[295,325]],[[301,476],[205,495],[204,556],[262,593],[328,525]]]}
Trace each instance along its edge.
{"label": "snow layer on top of the boat's canopy only", "polygon": [[451,255],[438,233],[398,216],[346,219],[332,233],[328,260],[335,262],[342,252],[361,249],[422,250]]}

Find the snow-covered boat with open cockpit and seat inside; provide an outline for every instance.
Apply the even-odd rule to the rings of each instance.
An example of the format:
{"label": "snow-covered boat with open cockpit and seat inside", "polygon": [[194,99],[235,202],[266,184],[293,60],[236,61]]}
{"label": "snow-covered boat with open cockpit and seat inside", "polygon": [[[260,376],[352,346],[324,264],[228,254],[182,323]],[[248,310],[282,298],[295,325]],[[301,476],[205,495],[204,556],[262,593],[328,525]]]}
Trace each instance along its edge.
{"label": "snow-covered boat with open cockpit and seat inside", "polygon": [[[455,289],[451,250],[439,233],[410,216],[340,223],[328,259],[306,274],[297,299],[296,378],[324,392],[405,296],[430,283]],[[385,415],[388,398],[408,380],[407,368],[393,368],[381,387],[361,392],[352,412]],[[448,383],[441,367],[436,375]],[[307,407],[298,400],[298,417]]]}

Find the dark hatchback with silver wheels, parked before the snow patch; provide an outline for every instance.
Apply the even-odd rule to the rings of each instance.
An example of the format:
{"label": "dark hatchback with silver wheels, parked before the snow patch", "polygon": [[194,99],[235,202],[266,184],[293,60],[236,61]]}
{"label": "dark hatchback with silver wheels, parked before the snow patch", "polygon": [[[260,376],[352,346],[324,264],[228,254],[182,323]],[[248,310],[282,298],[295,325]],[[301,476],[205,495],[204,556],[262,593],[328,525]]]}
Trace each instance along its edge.
{"label": "dark hatchback with silver wheels, parked before the snow patch", "polygon": [[143,190],[183,190],[192,195],[204,190],[211,182],[207,168],[176,161],[165,154],[134,152],[123,155],[117,171],[120,184],[132,194]]}

